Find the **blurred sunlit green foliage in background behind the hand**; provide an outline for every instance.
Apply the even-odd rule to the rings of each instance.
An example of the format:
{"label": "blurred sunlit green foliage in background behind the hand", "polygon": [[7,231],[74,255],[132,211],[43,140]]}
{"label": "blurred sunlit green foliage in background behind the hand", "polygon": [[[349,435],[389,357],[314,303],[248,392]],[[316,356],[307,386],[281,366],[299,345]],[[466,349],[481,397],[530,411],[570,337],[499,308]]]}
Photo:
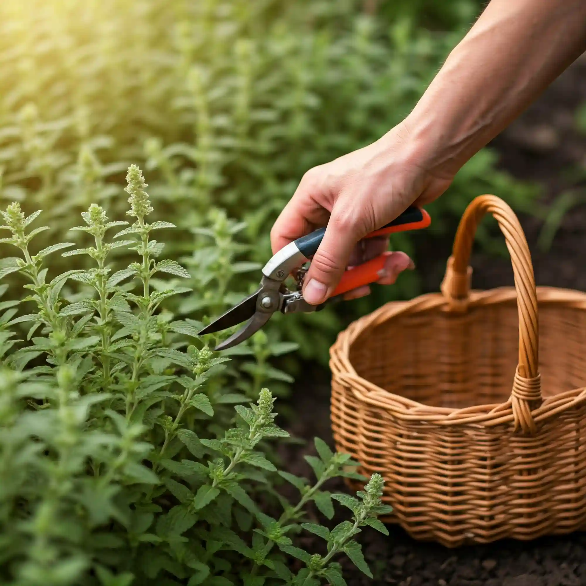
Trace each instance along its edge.
{"label": "blurred sunlit green foliage in background behind the hand", "polygon": [[[199,288],[174,309],[189,317],[203,304],[213,318],[253,287],[254,272],[234,275],[228,265],[267,260],[272,222],[305,171],[403,119],[481,6],[4,0],[0,198],[19,200],[28,212],[42,207],[52,226],[42,236],[58,241],[54,233],[62,237],[61,226],[73,225],[92,202],[121,213],[125,169],[137,163],[157,213],[181,230],[168,254],[185,263],[195,258],[190,271]],[[526,205],[532,190],[495,165],[483,151],[462,169],[430,206],[430,237],[451,230],[479,193]],[[226,222],[246,223],[238,250],[222,252],[213,230],[201,230],[217,231],[222,214]],[[393,247],[414,254],[409,235],[397,236]],[[222,281],[224,295],[206,301],[210,279]],[[306,342],[311,332],[301,356],[326,360],[336,332],[357,311],[419,291],[417,275],[402,275],[396,287],[342,305],[338,314],[275,316],[268,335],[279,330],[277,337]]]}

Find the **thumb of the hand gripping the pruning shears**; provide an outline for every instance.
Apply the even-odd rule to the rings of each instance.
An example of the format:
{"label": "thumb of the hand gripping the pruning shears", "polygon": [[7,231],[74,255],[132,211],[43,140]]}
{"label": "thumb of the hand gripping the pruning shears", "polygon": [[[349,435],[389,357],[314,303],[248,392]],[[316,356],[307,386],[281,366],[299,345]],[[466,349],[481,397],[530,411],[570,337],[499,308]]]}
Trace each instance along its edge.
{"label": "thumb of the hand gripping the pruning shears", "polygon": [[305,276],[303,297],[311,305],[323,303],[337,287],[359,237],[355,226],[331,217]]}

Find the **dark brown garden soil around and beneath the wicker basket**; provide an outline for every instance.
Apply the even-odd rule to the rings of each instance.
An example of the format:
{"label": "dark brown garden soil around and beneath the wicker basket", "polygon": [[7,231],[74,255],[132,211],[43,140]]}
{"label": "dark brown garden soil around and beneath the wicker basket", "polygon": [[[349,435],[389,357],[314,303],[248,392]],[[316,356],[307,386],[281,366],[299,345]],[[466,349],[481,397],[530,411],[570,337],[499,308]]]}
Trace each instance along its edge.
{"label": "dark brown garden soil around and beneath the wicker basket", "polygon": [[[544,203],[568,188],[582,186],[586,193],[586,181],[582,179],[580,183],[575,175],[568,175],[568,171],[586,166],[586,138],[575,130],[574,122],[574,113],[584,100],[586,59],[581,59],[493,142],[502,155],[503,169],[543,186]],[[496,195],[506,199],[506,194]],[[520,220],[532,250],[537,284],[586,291],[586,205],[574,207],[566,214],[547,252],[537,248],[541,220],[522,214]],[[453,234],[445,241],[424,242],[418,250],[418,271],[424,277],[425,291],[438,291],[452,237]],[[513,284],[506,259],[474,254],[472,265],[475,288]],[[332,445],[329,373],[309,370],[294,388],[292,401],[298,417],[289,424],[289,431],[305,440],[319,436]],[[308,453],[313,453],[312,444],[282,448],[281,455],[291,472],[308,476],[309,468],[302,458]],[[345,490],[341,482],[333,482],[329,488]],[[344,561],[350,586],[586,586],[584,533],[529,543],[501,541],[449,550],[415,541],[398,527],[390,526],[389,530],[389,537],[370,528],[359,536],[374,581]],[[304,539],[309,551],[321,551],[319,538]]]}

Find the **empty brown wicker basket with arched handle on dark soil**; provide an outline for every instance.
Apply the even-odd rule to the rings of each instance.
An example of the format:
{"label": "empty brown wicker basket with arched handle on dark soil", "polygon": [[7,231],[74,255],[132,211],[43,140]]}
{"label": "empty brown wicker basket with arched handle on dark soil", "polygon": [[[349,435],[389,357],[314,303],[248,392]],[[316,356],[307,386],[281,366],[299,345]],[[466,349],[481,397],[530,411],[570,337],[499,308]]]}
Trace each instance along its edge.
{"label": "empty brown wicker basket with arched handle on dark soil", "polygon": [[[515,288],[470,291],[486,212],[505,235]],[[383,475],[394,509],[383,520],[416,539],[455,547],[586,529],[586,294],[536,289],[519,221],[492,195],[466,210],[441,290],[340,333],[336,447],[364,475]]]}

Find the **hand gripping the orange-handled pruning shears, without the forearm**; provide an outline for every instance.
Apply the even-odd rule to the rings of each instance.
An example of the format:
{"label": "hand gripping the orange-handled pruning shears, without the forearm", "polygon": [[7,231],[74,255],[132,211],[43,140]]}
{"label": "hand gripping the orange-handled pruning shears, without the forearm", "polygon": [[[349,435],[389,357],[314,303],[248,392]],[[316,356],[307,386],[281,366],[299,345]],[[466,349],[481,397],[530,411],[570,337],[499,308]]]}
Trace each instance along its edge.
{"label": "hand gripping the orange-handled pruning shears, without the forearm", "polygon": [[[305,301],[322,303],[347,267],[364,263],[389,246],[387,238],[362,240],[366,234],[391,222],[413,203],[424,205],[448,188],[451,173],[432,172],[426,159],[410,142],[403,124],[379,141],[305,173],[271,230],[272,251],[276,253],[327,224],[305,277]],[[414,265],[405,253],[390,254],[378,282],[392,284],[407,268]],[[369,292],[364,286],[345,297],[362,297]]]}

